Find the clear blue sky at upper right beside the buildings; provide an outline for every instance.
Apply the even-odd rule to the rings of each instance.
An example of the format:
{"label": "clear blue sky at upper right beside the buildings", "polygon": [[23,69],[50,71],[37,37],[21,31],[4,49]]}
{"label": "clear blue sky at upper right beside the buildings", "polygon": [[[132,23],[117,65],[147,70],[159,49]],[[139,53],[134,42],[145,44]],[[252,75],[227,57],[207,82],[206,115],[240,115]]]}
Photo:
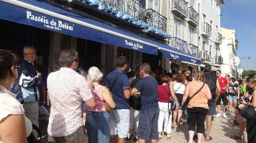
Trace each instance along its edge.
{"label": "clear blue sky at upper right beside the buildings", "polygon": [[256,1],[224,0],[224,3],[221,6],[221,27],[236,30],[237,57],[244,58],[240,60],[241,68],[256,70]]}

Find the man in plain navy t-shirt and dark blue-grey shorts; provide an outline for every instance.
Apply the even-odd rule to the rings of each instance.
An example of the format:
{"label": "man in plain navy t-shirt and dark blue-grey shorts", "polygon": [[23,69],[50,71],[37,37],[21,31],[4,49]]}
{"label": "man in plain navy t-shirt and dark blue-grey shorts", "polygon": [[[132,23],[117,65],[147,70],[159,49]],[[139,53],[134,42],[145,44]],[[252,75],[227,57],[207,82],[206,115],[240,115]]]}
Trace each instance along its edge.
{"label": "man in plain navy t-shirt and dark blue-grey shorts", "polygon": [[140,75],[143,77],[133,89],[131,95],[141,92],[141,111],[139,114],[138,138],[139,142],[151,140],[151,143],[158,141],[158,82],[150,76],[151,67],[143,63],[140,68]]}

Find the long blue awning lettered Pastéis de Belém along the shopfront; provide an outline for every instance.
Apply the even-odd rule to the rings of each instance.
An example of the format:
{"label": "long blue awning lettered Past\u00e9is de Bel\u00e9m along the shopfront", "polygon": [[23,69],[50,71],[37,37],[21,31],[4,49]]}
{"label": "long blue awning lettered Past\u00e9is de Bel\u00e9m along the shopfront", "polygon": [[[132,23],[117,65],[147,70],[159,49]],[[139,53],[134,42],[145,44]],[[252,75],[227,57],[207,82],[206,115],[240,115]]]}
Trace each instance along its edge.
{"label": "long blue awning lettered Past\u00e9is de Bel\u00e9m along the shopfront", "polygon": [[200,59],[191,57],[174,47],[123,31],[122,29],[63,10],[42,1],[0,0],[0,19],[68,34],[86,40],[126,47],[127,49],[148,54],[157,55],[158,49],[160,49],[165,58],[201,64]]}

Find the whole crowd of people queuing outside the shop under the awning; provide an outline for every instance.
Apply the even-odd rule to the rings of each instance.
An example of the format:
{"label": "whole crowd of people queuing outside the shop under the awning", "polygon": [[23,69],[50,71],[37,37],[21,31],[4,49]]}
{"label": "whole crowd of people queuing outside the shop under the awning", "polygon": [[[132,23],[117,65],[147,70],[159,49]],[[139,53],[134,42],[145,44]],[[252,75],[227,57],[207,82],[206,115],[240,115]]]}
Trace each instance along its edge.
{"label": "whole crowd of people queuing outside the shop under the awning", "polygon": [[[0,50],[0,142],[33,142],[31,138],[38,137],[32,128],[39,127],[46,86],[34,64],[35,48],[24,47],[23,55],[18,64],[13,51]],[[59,63],[60,70],[49,73],[46,84],[49,142],[154,143],[165,135],[171,138],[172,127],[183,124],[188,124],[189,143],[196,138],[209,141],[213,118],[231,113],[235,116],[228,122],[240,128],[231,138],[241,139],[247,128],[248,142],[256,142],[255,118],[240,114],[245,106],[256,107],[256,77],[221,77],[221,71],[213,72],[208,64],[204,71],[192,73],[153,72],[148,63],[127,72],[129,63],[121,56],[104,80],[97,67],[87,73],[79,68],[78,53],[72,49],[61,51]]]}

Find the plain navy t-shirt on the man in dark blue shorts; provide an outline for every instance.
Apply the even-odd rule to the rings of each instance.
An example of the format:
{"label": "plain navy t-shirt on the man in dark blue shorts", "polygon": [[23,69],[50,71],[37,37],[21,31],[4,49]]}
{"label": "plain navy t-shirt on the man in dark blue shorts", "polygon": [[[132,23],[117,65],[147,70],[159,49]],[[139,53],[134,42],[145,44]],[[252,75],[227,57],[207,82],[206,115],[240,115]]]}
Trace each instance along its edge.
{"label": "plain navy t-shirt on the man in dark blue shorts", "polygon": [[158,82],[151,76],[139,80],[135,88],[141,92],[141,110],[159,109],[158,106]]}

